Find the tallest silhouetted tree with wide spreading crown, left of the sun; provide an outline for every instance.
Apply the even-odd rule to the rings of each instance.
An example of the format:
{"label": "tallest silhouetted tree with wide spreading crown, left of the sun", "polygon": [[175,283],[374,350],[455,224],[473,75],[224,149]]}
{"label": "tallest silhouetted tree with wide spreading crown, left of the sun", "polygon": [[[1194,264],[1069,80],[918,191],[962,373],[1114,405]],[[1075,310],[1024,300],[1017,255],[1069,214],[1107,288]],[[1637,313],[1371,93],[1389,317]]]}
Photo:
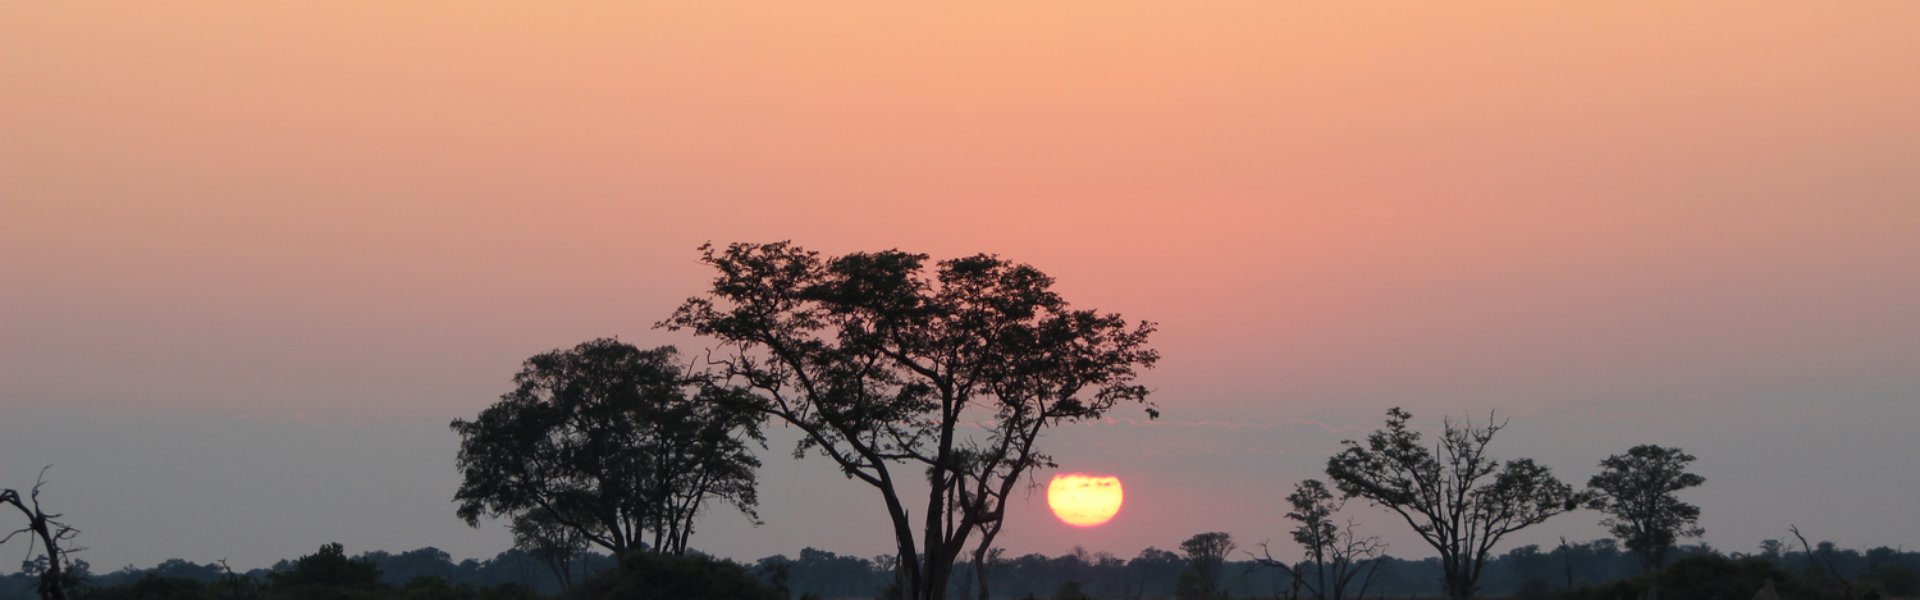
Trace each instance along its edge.
{"label": "tallest silhouetted tree with wide spreading crown, left of the sun", "polygon": [[[660,325],[720,340],[716,371],[804,433],[797,454],[879,490],[908,598],[943,598],[975,533],[975,562],[993,548],[1021,475],[1052,465],[1043,429],[1146,404],[1152,323],[1075,310],[1029,265],[981,254],[929,271],[925,254],[789,242],[707,244],[701,262],[712,288]],[[925,477],[918,508],[902,477]]]}

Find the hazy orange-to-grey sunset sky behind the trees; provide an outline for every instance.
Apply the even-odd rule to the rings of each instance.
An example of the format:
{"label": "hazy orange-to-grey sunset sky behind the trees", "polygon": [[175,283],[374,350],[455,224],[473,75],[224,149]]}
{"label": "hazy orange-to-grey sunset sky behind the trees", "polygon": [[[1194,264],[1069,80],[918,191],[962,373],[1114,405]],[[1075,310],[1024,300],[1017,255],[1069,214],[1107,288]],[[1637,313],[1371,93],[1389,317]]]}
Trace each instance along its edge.
{"label": "hazy orange-to-grey sunset sky behind the trees", "polygon": [[[486,558],[447,421],[551,348],[705,348],[653,329],[695,248],[793,240],[1160,323],[1160,421],[1043,438],[1121,513],[1033,494],[1012,554],[1288,552],[1286,490],[1390,406],[1571,483],[1682,446],[1722,550],[1912,546],[1914,106],[1912,2],[13,2],[0,487],[54,465],[96,567]],[[889,552],[772,435],[766,523],[691,544]]]}

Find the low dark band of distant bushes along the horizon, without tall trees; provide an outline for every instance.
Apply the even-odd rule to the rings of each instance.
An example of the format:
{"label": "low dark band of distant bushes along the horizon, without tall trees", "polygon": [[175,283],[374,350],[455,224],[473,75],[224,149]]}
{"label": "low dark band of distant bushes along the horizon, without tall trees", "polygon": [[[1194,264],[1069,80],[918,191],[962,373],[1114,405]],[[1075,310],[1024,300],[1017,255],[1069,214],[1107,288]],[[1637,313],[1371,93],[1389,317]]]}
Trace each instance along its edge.
{"label": "low dark band of distant bushes along the horizon, without tall trees", "polygon": [[[628,562],[626,567],[589,552],[578,573],[582,583],[572,594],[563,594],[553,573],[518,550],[492,560],[453,562],[434,548],[351,558],[328,548],[332,546],[244,573],[186,560],[90,573],[84,562],[77,562],[83,583],[73,598],[881,598],[893,583],[891,569],[885,567],[889,560],[814,548],[753,563],[712,560],[697,552],[684,558],[649,556]],[[1882,598],[1920,596],[1920,552],[1860,552],[1818,542],[1809,560],[1797,548],[1770,542],[1751,554],[1678,546],[1672,558],[1665,569],[1642,575],[1640,558],[1611,538],[1555,548],[1519,546],[1488,562],[1480,581],[1482,596],[1617,600],[1642,598],[1645,588],[1657,585],[1663,598],[1749,600],[1772,581],[1782,598],[1843,598],[1841,585],[1826,571],[1828,563],[1851,585],[1853,598],[1870,592]],[[972,575],[972,567],[962,562],[958,571]],[[1148,548],[1131,558],[1077,550],[1064,556],[1004,558],[989,563],[989,571],[995,598],[1062,598],[1068,596],[1064,590],[1087,598],[1179,598],[1183,577],[1192,577],[1192,563],[1177,550]],[[1217,592],[1231,598],[1313,598],[1306,590],[1292,596],[1290,577],[1246,554],[1221,562],[1217,575]],[[950,592],[958,594],[964,579],[956,577]],[[1438,558],[1382,556],[1365,598],[1434,598],[1440,581]],[[36,585],[33,565],[0,575],[0,600],[38,598]],[[645,596],[639,590],[647,585],[670,592],[699,587],[703,592]]]}

